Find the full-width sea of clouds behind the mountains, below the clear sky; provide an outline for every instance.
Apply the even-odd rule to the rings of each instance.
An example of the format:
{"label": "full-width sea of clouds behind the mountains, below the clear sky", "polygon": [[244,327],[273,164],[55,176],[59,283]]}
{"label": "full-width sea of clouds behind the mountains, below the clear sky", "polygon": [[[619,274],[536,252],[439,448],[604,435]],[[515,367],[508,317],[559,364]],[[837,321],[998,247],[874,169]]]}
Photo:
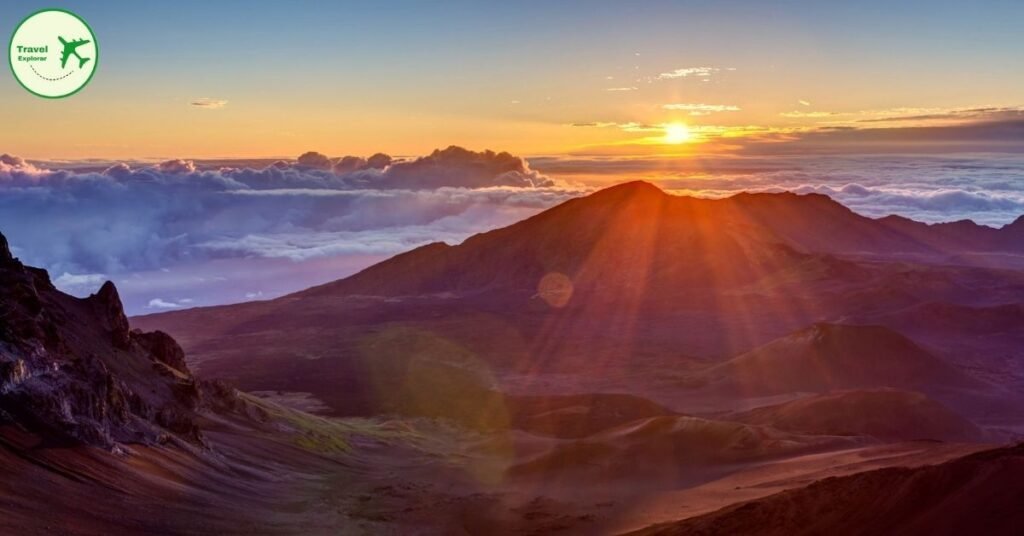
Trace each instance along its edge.
{"label": "full-width sea of clouds behind the mountains, below the clear sky", "polygon": [[817,192],[869,216],[1024,213],[1024,158],[537,158],[449,148],[225,166],[97,166],[0,157],[0,231],[15,255],[85,295],[114,280],[131,314],[263,299],[430,242],[459,243],[595,188],[637,178],[681,194]]}

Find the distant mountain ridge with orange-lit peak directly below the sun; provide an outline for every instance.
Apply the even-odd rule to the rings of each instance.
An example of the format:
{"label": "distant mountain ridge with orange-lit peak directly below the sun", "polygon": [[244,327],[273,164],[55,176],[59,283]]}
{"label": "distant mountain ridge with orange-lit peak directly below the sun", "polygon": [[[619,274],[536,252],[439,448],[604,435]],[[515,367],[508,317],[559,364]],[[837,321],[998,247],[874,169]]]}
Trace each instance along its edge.
{"label": "distant mountain ridge with orange-lit peak directly below the sun", "polygon": [[[807,255],[911,255],[941,262],[978,252],[1024,253],[1024,216],[1001,229],[971,221],[927,224],[861,216],[820,194],[700,199],[634,181],[456,246],[414,249],[296,295],[508,289],[534,285],[548,273],[564,274],[578,287],[641,276],[655,286],[658,278],[713,279],[724,286],[750,282]],[[687,258],[685,270],[674,265],[680,256]]]}

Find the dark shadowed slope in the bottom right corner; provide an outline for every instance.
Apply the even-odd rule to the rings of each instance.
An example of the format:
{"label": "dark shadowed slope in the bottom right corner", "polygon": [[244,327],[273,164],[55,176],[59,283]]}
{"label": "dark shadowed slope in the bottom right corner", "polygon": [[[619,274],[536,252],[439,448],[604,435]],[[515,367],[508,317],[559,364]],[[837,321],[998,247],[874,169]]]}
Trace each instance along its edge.
{"label": "dark shadowed slope in the bottom right corner", "polygon": [[642,535],[930,534],[1024,532],[1024,446],[938,465],[884,468],[650,527]]}

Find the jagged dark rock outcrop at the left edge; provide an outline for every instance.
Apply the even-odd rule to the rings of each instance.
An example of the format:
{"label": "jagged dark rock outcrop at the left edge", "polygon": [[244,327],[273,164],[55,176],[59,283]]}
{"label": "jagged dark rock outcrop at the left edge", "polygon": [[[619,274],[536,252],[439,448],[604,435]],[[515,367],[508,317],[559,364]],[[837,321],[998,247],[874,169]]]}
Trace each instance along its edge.
{"label": "jagged dark rock outcrop at the left edge", "polygon": [[114,284],[63,294],[0,235],[0,421],[57,444],[201,445],[203,390],[173,338],[130,330]]}

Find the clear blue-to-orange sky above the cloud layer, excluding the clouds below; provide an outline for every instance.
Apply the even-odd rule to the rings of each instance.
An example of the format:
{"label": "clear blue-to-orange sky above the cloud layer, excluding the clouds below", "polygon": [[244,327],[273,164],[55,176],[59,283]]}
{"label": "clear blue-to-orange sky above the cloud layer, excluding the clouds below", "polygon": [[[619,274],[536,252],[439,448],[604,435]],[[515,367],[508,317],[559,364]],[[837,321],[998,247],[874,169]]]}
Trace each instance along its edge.
{"label": "clear blue-to-orange sky above the cloud layer, excluding the clouds below", "polygon": [[[31,4],[5,2],[0,20]],[[1024,105],[1019,1],[635,4],[60,2],[95,31],[99,71],[57,102],[0,77],[0,147],[689,153],[711,146],[657,143],[664,125],[703,139]]]}

